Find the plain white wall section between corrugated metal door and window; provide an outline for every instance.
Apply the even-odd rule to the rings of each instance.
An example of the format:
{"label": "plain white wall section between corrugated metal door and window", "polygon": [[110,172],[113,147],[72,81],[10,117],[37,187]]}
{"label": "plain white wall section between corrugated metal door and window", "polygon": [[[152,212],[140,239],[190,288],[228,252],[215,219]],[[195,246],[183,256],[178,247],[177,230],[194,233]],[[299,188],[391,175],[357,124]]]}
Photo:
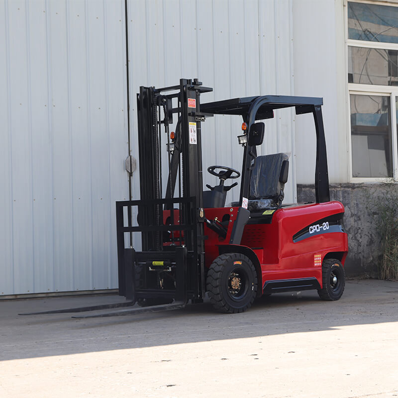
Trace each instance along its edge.
{"label": "plain white wall section between corrugated metal door and window", "polygon": [[[329,181],[348,182],[348,103],[343,1],[294,0],[295,93],[323,97]],[[298,183],[313,184],[315,129],[311,115],[296,119]]]}

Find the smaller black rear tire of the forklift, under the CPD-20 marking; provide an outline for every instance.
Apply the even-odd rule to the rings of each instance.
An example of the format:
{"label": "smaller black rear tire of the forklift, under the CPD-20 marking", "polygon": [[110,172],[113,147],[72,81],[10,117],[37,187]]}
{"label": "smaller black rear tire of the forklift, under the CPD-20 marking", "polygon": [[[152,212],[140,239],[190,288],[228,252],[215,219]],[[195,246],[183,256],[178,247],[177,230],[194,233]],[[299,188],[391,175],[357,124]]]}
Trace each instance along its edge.
{"label": "smaller black rear tire of the forklift, under the CPD-20 marking", "polygon": [[345,272],[339,260],[328,258],[322,263],[322,289],[318,295],[322,300],[338,300],[344,292]]}

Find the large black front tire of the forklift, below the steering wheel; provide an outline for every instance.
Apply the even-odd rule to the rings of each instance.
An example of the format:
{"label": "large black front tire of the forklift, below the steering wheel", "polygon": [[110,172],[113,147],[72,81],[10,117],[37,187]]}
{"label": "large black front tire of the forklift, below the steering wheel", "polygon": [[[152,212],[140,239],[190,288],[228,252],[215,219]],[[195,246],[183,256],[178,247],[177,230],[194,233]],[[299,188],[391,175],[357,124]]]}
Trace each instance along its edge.
{"label": "large black front tire of the forklift, below the steering wheel", "polygon": [[221,254],[210,265],[206,288],[217,311],[246,311],[257,293],[256,269],[251,260],[243,254]]}

